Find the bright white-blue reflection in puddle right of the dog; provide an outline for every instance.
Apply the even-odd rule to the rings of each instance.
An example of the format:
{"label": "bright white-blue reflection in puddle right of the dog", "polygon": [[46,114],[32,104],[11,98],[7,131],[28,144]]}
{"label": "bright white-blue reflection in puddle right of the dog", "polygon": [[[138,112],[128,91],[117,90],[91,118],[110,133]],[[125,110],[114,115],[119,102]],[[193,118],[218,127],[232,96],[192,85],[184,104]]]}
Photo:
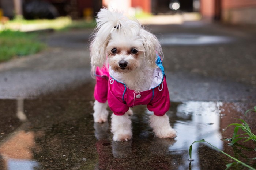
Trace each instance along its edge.
{"label": "bright white-blue reflection in puddle right of the dog", "polygon": [[[169,147],[172,154],[182,155],[183,160],[188,160],[188,148],[196,140],[205,139],[214,143],[219,149],[223,148],[222,136],[219,131],[221,102],[185,102],[177,106],[177,119],[174,129],[178,132],[177,142]],[[193,144],[192,167],[200,169],[199,143]],[[179,169],[187,168],[188,161],[184,161]]]}

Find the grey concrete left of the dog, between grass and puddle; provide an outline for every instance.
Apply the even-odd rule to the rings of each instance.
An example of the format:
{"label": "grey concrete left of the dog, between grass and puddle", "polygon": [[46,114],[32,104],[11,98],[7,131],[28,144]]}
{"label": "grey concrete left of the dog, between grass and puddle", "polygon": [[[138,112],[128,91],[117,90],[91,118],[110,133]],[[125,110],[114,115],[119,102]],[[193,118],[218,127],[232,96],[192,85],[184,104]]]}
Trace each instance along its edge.
{"label": "grey concrete left of the dog, between grass and puddle", "polygon": [[48,50],[0,63],[0,98],[30,98],[91,81],[89,34],[46,35]]}

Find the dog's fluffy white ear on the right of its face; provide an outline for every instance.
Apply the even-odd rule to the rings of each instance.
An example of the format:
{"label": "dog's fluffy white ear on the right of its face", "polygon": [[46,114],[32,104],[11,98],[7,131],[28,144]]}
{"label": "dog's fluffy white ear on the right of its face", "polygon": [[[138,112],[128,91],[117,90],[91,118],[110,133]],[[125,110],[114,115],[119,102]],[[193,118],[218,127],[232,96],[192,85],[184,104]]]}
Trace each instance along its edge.
{"label": "dog's fluffy white ear on the right of its face", "polygon": [[144,29],[140,30],[139,35],[143,40],[148,65],[152,68],[156,68],[155,60],[157,59],[157,54],[162,58],[162,47],[157,37]]}

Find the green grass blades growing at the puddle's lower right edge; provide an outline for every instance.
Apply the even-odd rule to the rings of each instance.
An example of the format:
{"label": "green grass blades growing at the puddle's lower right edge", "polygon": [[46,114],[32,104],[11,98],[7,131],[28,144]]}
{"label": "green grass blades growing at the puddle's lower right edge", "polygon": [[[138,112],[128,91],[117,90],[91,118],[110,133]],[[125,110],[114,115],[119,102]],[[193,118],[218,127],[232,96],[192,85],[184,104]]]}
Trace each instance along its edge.
{"label": "green grass blades growing at the puddle's lower right edge", "polygon": [[[256,106],[254,106],[254,110],[253,110],[253,109],[247,110],[247,111],[245,112],[245,115],[246,115],[249,111],[254,111],[254,112],[256,112]],[[234,145],[237,141],[240,141],[240,140],[243,140],[243,142],[247,142],[247,141],[250,141],[250,140],[256,142],[256,136],[255,136],[255,134],[253,134],[253,133],[251,132],[251,129],[249,128],[248,124],[247,124],[244,120],[242,120],[242,119],[237,119],[237,120],[240,120],[243,124],[240,124],[240,123],[232,123],[232,124],[229,124],[229,126],[226,127],[226,129],[227,129],[227,128],[230,127],[230,126],[235,126],[235,127],[234,127],[234,133],[233,133],[232,138],[227,139],[227,140],[231,141],[231,143],[230,143],[229,145]],[[225,129],[225,130],[226,130],[226,129]],[[241,135],[237,135],[237,132],[238,132],[239,129],[241,129],[241,130],[244,131],[245,133],[244,133],[244,134],[241,134]],[[224,132],[225,132],[225,131],[223,131],[223,133],[224,133]],[[190,147],[189,147],[189,157],[190,157],[190,161],[192,161],[192,156],[191,156],[191,153],[192,153],[192,145],[193,145],[194,143],[198,143],[198,142],[206,142],[206,143],[208,143],[210,146],[212,146],[214,149],[216,149],[216,150],[218,150],[219,152],[223,153],[223,154],[226,155],[227,157],[233,159],[233,160],[236,161],[237,163],[240,163],[241,165],[247,167],[248,169],[256,170],[255,168],[253,168],[253,167],[247,165],[246,163],[244,163],[244,162],[242,162],[242,161],[240,161],[240,160],[238,160],[238,159],[236,159],[236,158],[230,156],[229,154],[223,152],[222,150],[220,150],[220,149],[218,149],[217,147],[213,146],[211,143],[205,141],[204,139],[202,139],[202,140],[200,140],[200,141],[194,141],[194,142],[190,145]],[[256,148],[255,148],[254,150],[256,150]],[[251,159],[252,159],[252,160],[255,160],[256,158],[251,158]],[[227,165],[226,165],[226,167],[227,167],[226,169],[229,169],[231,166],[235,165],[236,162],[232,162],[232,163],[227,164]]]}

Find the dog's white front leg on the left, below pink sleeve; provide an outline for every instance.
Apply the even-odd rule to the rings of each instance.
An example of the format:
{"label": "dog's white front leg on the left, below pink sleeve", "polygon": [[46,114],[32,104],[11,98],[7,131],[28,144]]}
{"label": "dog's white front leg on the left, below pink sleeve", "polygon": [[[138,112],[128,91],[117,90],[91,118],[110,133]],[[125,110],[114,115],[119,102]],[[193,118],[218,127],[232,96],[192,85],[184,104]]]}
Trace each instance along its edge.
{"label": "dog's white front leg on the left, below pink sleeve", "polygon": [[122,116],[112,114],[111,132],[114,141],[128,141],[132,138],[132,122],[128,113]]}

